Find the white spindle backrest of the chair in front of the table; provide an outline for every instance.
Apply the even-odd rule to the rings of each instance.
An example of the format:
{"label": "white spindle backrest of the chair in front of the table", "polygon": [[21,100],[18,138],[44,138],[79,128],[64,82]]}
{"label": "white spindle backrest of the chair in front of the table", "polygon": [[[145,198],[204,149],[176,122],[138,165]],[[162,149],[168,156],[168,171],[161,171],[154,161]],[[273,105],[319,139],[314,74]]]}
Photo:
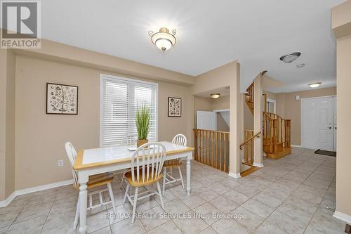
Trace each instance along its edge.
{"label": "white spindle backrest of the chair in front of the table", "polygon": [[161,174],[166,147],[161,143],[146,143],[141,145],[131,158],[131,174],[133,182],[147,182]]}

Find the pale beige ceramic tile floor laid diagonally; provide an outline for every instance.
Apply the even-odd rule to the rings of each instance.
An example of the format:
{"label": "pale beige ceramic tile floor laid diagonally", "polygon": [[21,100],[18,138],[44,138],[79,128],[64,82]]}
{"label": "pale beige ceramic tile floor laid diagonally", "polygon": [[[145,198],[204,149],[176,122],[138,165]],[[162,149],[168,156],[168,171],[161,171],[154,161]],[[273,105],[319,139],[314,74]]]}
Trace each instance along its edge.
{"label": "pale beige ceramic tile floor laid diagonally", "polygon": [[[336,157],[294,148],[291,155],[265,159],[264,164],[253,174],[235,179],[193,162],[190,197],[173,184],[166,189],[164,209],[157,196],[138,202],[140,214],[158,215],[141,217],[134,224],[128,216],[107,219],[112,208],[103,207],[88,214],[88,232],[343,233],[345,223],[333,218],[331,211],[335,209]],[[112,186],[117,213],[131,213],[131,205],[122,204],[119,178]],[[75,233],[76,202],[72,186],[16,197],[8,207],[0,208],[0,233]]]}

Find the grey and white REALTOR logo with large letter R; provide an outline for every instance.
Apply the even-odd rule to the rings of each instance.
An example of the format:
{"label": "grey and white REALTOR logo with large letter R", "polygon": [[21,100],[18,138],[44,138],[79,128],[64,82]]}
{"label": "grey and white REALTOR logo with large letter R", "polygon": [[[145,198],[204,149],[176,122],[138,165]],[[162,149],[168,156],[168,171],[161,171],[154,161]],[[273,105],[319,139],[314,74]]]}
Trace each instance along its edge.
{"label": "grey and white REALTOR logo with large letter R", "polygon": [[1,48],[41,48],[41,1],[1,1]]}

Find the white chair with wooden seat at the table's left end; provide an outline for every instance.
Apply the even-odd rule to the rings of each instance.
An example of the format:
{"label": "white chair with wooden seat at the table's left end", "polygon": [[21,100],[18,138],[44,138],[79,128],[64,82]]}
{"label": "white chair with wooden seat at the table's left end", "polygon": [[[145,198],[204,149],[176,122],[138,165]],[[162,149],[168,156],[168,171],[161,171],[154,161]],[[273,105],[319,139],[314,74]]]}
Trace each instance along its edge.
{"label": "white chair with wooden seat at the table's left end", "polygon": [[[71,166],[72,166],[73,187],[79,189],[78,174],[77,174],[77,171],[74,171],[74,169],[73,169],[74,161],[75,161],[76,156],[77,156],[77,151],[74,149],[74,146],[70,142],[67,142],[65,144],[65,148],[66,148],[69,162],[71,162]],[[103,173],[103,174],[97,174],[94,176],[89,176],[89,181],[88,181],[88,183],[86,183],[86,185],[88,186],[87,189],[96,188],[98,186],[103,186],[103,185],[106,185],[107,188],[100,189],[100,190],[94,190],[93,192],[88,193],[88,200],[89,201],[88,201],[87,210],[91,210],[91,209],[94,209],[97,207],[102,207],[105,204],[112,203],[113,212],[114,212],[114,214],[116,214],[116,207],[114,206],[114,197],[113,197],[113,191],[112,191],[112,186],[111,186],[112,180],[113,180],[112,173]],[[106,191],[108,191],[108,193],[110,194],[110,198],[111,198],[111,200],[108,202],[105,202],[103,195],[102,195],[102,193],[104,193]],[[100,201],[99,204],[93,205],[93,195],[99,196],[99,201]],[[79,198],[78,198],[78,202],[77,202],[76,216],[74,217],[73,230],[76,230],[76,228],[77,228],[78,218],[79,218]]]}

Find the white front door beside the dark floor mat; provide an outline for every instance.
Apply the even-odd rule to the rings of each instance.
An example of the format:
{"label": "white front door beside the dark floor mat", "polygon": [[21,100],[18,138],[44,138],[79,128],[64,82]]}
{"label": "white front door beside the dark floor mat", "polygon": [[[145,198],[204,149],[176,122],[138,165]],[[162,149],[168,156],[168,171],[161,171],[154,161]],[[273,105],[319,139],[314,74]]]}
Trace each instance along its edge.
{"label": "white front door beside the dark floor mat", "polygon": [[333,150],[333,97],[303,100],[303,147]]}

